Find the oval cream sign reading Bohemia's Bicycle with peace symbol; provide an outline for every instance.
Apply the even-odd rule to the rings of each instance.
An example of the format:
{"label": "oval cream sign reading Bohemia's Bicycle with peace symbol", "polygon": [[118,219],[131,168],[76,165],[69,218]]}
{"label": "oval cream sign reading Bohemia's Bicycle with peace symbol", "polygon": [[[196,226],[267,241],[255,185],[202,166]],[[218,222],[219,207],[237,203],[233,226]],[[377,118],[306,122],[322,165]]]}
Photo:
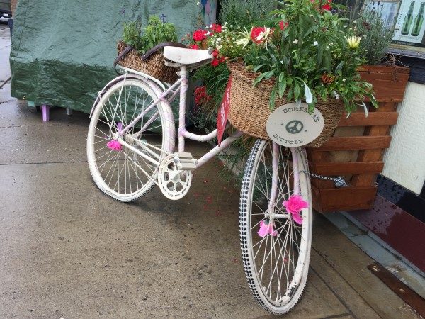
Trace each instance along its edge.
{"label": "oval cream sign reading Bohemia's Bicycle with peace symbol", "polygon": [[306,103],[288,103],[276,108],[267,120],[267,134],[279,145],[295,147],[315,140],[323,130],[323,116],[317,108],[308,113]]}

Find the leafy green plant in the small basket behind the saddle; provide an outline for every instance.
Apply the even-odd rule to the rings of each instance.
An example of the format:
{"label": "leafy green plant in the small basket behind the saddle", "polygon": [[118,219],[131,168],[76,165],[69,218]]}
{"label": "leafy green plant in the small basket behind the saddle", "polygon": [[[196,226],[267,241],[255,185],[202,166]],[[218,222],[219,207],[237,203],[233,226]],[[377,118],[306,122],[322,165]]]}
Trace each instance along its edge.
{"label": "leafy green plant in the small basket behind the saddle", "polygon": [[123,41],[141,54],[145,54],[159,43],[176,42],[177,33],[174,24],[162,23],[157,16],[150,16],[143,30],[139,21],[124,23]]}

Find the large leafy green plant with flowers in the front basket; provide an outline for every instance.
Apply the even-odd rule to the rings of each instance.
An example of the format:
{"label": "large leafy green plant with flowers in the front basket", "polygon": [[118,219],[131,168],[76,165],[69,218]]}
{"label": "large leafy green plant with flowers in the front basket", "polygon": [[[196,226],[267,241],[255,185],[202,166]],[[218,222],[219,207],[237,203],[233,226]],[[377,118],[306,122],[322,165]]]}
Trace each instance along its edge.
{"label": "large leafy green plant with flowers in the front basket", "polygon": [[249,47],[242,57],[247,69],[260,73],[254,85],[276,79],[271,108],[276,96],[283,95],[290,101],[305,100],[311,111],[318,99],[328,98],[342,99],[348,113],[365,96],[378,106],[371,84],[357,72],[365,62],[361,38],[346,18],[330,9],[330,0],[288,0],[269,19],[275,28],[254,27],[237,40]]}

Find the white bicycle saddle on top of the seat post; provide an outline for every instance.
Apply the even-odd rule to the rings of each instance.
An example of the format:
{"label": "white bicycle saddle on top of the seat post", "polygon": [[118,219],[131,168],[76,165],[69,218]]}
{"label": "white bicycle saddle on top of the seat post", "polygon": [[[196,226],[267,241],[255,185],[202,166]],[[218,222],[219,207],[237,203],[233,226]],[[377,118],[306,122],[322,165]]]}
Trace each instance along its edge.
{"label": "white bicycle saddle on top of the seat post", "polygon": [[195,67],[212,61],[212,54],[208,50],[193,50],[183,47],[164,47],[164,57],[172,62]]}

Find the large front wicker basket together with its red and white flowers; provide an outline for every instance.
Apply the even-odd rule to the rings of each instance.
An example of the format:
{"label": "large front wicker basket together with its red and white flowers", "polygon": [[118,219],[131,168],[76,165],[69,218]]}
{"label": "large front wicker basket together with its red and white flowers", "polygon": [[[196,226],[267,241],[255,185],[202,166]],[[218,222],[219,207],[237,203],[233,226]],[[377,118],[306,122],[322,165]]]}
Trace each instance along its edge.
{"label": "large front wicker basket together with its red and white flowers", "polygon": [[232,125],[268,139],[266,121],[273,108],[305,101],[310,111],[318,108],[324,116],[324,131],[308,145],[319,147],[344,110],[366,109],[365,98],[378,106],[372,86],[357,71],[364,62],[361,37],[342,10],[330,0],[288,0],[253,26],[204,33],[203,41],[215,47],[232,75]]}

